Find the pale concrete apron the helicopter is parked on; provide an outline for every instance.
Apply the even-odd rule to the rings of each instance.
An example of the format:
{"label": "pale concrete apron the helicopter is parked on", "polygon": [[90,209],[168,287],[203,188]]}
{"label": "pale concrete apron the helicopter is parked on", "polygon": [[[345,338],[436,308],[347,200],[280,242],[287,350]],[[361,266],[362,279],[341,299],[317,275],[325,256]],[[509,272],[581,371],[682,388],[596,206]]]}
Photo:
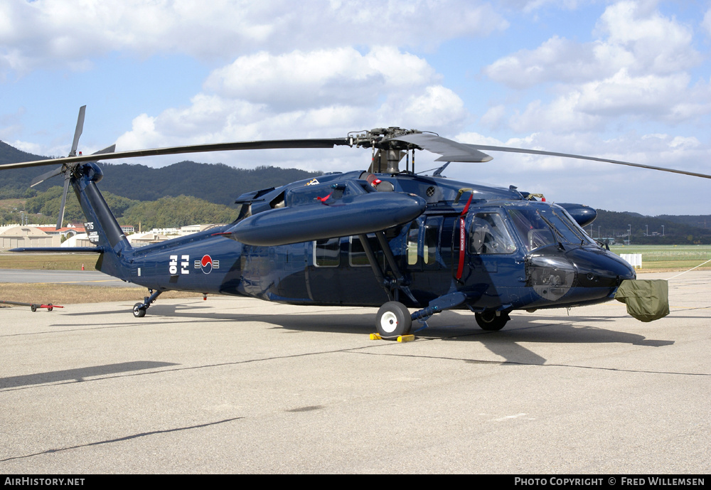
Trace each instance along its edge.
{"label": "pale concrete apron the helicopter is parked on", "polygon": [[707,474],[711,272],[669,286],[651,323],[445,311],[408,343],[372,308],[2,308],[0,474]]}

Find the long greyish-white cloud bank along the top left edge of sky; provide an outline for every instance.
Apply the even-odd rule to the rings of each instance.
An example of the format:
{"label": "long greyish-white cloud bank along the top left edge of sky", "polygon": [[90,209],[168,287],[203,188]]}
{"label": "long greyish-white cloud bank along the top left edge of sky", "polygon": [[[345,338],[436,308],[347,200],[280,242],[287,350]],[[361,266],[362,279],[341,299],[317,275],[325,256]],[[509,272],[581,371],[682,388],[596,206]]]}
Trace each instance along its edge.
{"label": "long greyish-white cloud bank along the top left edge of sky", "polygon": [[256,50],[427,47],[507,26],[488,3],[465,0],[5,0],[0,71],[85,69],[92,57],[119,50],[230,60]]}

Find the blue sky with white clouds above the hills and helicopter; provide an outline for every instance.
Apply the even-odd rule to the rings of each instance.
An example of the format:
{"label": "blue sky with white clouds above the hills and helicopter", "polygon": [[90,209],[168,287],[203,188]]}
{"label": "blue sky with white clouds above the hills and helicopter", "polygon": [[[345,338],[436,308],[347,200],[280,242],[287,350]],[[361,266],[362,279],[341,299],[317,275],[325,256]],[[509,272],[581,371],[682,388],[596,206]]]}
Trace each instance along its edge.
{"label": "blue sky with white clouds above the hills and helicopter", "polygon": [[[398,126],[711,174],[710,53],[711,1],[2,0],[0,140],[65,156],[87,105],[84,153]],[[444,175],[609,211],[711,214],[709,179],[490,154]],[[417,171],[437,157],[418,152]],[[349,171],[370,151],[129,163],[183,159]]]}

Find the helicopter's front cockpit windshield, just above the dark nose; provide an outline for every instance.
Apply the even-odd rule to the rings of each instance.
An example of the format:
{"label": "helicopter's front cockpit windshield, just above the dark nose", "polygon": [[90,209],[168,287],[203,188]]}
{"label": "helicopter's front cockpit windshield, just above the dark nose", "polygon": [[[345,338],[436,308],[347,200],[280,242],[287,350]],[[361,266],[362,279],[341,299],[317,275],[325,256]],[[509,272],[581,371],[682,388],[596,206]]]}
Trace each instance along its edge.
{"label": "helicopter's front cockpit windshield, just above the dark nose", "polygon": [[562,208],[514,208],[508,214],[528,252],[556,243],[594,244]]}

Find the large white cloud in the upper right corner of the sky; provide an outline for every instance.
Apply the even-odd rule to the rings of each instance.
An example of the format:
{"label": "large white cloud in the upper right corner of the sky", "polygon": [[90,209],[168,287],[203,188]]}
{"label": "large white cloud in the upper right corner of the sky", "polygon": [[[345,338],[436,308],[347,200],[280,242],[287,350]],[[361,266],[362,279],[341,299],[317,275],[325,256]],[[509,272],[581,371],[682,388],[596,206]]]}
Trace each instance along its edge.
{"label": "large white cloud in the upper right corner of the sky", "polygon": [[[484,68],[516,90],[550,86],[550,100],[538,95],[523,109],[507,108],[512,129],[589,131],[613,118],[683,122],[711,113],[710,84],[692,86],[689,70],[702,61],[693,30],[663,16],[656,2],[607,6],[595,32],[600,38],[589,43],[552,36]],[[505,119],[502,112],[497,109],[497,121]]]}

